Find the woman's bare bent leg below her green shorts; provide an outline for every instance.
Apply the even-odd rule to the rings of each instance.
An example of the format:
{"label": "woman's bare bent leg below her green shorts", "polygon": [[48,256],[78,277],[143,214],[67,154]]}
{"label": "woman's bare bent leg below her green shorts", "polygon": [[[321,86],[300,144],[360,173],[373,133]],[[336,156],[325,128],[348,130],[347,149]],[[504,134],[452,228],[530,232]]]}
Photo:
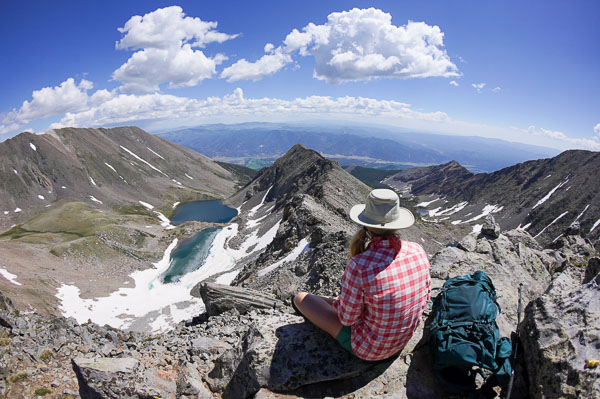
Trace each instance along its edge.
{"label": "woman's bare bent leg below her green shorts", "polygon": [[294,297],[296,307],[308,320],[333,338],[337,338],[343,326],[337,317],[337,310],[332,305],[333,301],[332,298],[307,292],[300,292]]}

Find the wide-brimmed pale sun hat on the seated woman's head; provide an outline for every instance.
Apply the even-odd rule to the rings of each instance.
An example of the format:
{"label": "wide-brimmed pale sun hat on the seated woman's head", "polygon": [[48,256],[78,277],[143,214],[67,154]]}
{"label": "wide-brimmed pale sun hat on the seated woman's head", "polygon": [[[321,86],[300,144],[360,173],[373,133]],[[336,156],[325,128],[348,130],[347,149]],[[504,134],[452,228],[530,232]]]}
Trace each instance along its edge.
{"label": "wide-brimmed pale sun hat on the seated woman's head", "polygon": [[362,226],[381,230],[405,229],[415,223],[412,212],[400,207],[398,194],[379,188],[371,191],[365,204],[350,209],[350,219]]}

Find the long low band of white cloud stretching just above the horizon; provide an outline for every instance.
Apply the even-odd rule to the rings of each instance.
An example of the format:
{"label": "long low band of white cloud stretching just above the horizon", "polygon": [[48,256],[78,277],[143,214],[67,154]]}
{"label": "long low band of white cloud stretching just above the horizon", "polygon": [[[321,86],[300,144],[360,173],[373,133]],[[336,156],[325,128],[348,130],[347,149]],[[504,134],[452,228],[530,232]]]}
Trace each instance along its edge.
{"label": "long low band of white cloud stretching just above the horizon", "polygon": [[51,128],[64,126],[106,126],[142,120],[206,120],[211,117],[280,116],[378,116],[427,121],[445,121],[443,112],[414,111],[409,104],[364,97],[309,96],[293,100],[245,98],[242,89],[223,97],[205,100],[152,93],[119,94],[81,112],[67,113]]}

